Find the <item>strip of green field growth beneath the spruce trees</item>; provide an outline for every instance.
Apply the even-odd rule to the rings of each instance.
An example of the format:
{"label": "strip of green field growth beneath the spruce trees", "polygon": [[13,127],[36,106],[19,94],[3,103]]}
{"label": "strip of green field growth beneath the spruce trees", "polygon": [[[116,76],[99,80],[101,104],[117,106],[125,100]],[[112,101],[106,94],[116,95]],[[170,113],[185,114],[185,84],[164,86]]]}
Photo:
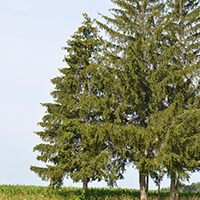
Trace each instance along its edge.
{"label": "strip of green field growth beneath the spruce trees", "polygon": [[[161,192],[161,199],[169,199],[169,192]],[[200,199],[200,193],[180,193],[180,200]],[[82,188],[62,187],[49,189],[42,186],[0,185],[0,200],[139,200],[139,190],[121,188],[89,188],[86,195]],[[157,199],[156,191],[149,191],[149,200]]]}

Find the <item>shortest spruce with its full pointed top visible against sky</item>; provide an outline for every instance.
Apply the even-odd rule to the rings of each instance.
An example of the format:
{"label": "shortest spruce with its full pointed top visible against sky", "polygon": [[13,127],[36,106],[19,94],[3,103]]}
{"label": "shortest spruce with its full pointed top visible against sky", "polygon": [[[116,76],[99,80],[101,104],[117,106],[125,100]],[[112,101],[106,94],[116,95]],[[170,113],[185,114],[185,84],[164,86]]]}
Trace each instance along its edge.
{"label": "shortest spruce with its full pointed top visible against sky", "polygon": [[[43,131],[36,132],[45,143],[34,151],[46,167],[31,166],[50,186],[60,187],[66,177],[83,182],[83,193],[88,182],[104,178],[112,184],[117,176],[111,166],[108,134],[101,126],[99,104],[99,62],[102,40],[87,14],[78,31],[67,41],[68,67],[59,69],[62,76],[53,78],[51,92],[55,103],[42,103],[47,108],[42,122]],[[99,87],[100,88],[100,87]],[[110,181],[110,182],[109,182]]]}

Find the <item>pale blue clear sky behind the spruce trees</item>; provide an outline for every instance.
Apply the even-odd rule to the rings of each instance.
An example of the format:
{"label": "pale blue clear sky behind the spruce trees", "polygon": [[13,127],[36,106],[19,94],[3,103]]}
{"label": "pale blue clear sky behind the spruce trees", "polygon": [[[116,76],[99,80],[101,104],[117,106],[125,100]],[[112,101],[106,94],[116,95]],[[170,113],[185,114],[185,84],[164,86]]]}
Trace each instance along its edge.
{"label": "pale blue clear sky behind the spruce trees", "polygon": [[[32,149],[42,141],[33,131],[45,109],[40,102],[52,102],[50,79],[64,67],[65,46],[83,21],[82,13],[97,18],[109,15],[110,0],[1,0],[0,3],[0,184],[48,185],[29,170],[43,166]],[[192,174],[190,182],[198,182]],[[81,187],[66,180],[65,186]],[[139,188],[138,172],[127,168],[122,188]],[[162,187],[169,186],[165,178]],[[92,182],[89,187],[106,187]],[[151,181],[150,189],[156,189]]]}

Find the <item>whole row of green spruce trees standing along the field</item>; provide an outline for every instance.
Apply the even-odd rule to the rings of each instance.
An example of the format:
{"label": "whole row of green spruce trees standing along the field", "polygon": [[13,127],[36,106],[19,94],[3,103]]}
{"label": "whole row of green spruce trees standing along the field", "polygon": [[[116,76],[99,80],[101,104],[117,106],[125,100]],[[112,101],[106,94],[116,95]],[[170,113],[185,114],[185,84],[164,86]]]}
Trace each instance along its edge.
{"label": "whole row of green spruce trees standing along the field", "polygon": [[[34,147],[42,180],[104,179],[113,186],[127,164],[139,171],[140,199],[149,176],[171,179],[170,199],[200,162],[199,0],[111,0],[106,23],[87,14],[67,46],[62,76],[51,80],[45,142]],[[107,33],[100,36],[99,30]]]}

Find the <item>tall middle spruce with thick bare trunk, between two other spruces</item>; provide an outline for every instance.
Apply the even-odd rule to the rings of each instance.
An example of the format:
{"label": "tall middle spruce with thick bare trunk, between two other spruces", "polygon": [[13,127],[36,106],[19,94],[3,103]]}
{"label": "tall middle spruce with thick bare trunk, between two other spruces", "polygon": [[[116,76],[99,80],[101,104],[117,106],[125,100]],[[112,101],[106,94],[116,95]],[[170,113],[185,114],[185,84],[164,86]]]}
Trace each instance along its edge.
{"label": "tall middle spruce with thick bare trunk, between two other spruces", "polygon": [[105,51],[108,67],[104,70],[112,74],[112,85],[105,89],[112,96],[112,104],[109,102],[112,105],[109,115],[114,116],[115,127],[112,143],[116,144],[121,158],[136,164],[140,198],[146,199],[149,175],[155,177],[160,168],[154,161],[160,141],[149,123],[162,103],[155,97],[155,84],[163,74],[157,82],[153,79],[159,74],[162,60],[163,4],[145,0],[112,2],[118,6],[111,9],[114,18],[102,15],[107,24],[98,22],[110,36]]}

